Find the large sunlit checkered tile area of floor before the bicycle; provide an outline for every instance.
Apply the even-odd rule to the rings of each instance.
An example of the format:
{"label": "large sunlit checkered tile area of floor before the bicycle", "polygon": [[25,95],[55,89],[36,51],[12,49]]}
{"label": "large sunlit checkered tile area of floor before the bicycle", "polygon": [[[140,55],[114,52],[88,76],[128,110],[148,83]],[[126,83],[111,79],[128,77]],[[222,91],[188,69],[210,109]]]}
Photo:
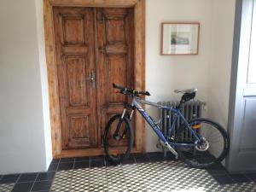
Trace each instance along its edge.
{"label": "large sunlit checkered tile area of floor before the bicycle", "polygon": [[256,191],[256,183],[219,185],[206,171],[163,161],[61,171],[51,191]]}

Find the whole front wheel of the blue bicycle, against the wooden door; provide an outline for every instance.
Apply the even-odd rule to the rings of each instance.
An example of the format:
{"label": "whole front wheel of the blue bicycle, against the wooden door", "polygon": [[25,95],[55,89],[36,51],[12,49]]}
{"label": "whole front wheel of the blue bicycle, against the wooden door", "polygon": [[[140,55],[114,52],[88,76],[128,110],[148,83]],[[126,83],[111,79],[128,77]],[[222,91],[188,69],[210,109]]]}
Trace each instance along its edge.
{"label": "whole front wheel of the blue bicycle, against the wooden door", "polygon": [[127,117],[122,119],[121,116],[116,114],[109,119],[103,137],[104,151],[112,165],[127,159],[133,145],[131,121]]}

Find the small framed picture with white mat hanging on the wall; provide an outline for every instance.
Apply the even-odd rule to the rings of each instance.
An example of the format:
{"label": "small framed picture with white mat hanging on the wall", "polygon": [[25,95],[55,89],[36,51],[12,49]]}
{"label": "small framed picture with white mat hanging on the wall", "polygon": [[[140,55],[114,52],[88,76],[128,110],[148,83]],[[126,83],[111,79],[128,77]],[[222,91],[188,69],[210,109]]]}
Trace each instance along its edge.
{"label": "small framed picture with white mat hanging on the wall", "polygon": [[198,55],[199,23],[162,23],[161,55]]}

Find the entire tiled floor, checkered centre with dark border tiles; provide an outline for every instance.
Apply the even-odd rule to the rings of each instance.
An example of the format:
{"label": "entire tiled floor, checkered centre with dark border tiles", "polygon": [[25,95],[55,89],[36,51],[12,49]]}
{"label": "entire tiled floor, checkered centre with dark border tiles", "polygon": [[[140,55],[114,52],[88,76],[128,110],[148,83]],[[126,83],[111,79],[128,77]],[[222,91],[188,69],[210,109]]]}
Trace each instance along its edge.
{"label": "entire tiled floor, checkered centre with dark border tiles", "polygon": [[131,154],[119,166],[103,156],[53,160],[49,172],[0,176],[0,191],[256,191],[255,182],[256,173],[194,169],[169,154],[149,153]]}

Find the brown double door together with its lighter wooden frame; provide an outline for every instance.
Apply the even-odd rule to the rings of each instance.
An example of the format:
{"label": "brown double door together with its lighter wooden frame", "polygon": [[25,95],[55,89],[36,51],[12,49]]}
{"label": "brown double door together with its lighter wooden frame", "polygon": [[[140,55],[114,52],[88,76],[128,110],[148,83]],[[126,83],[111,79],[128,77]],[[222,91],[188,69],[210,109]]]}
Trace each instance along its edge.
{"label": "brown double door together with its lighter wooden frame", "polygon": [[[99,2],[44,0],[54,157],[102,154],[104,127],[127,102],[112,83],[144,89],[143,1]],[[143,119],[134,125],[143,152]]]}

